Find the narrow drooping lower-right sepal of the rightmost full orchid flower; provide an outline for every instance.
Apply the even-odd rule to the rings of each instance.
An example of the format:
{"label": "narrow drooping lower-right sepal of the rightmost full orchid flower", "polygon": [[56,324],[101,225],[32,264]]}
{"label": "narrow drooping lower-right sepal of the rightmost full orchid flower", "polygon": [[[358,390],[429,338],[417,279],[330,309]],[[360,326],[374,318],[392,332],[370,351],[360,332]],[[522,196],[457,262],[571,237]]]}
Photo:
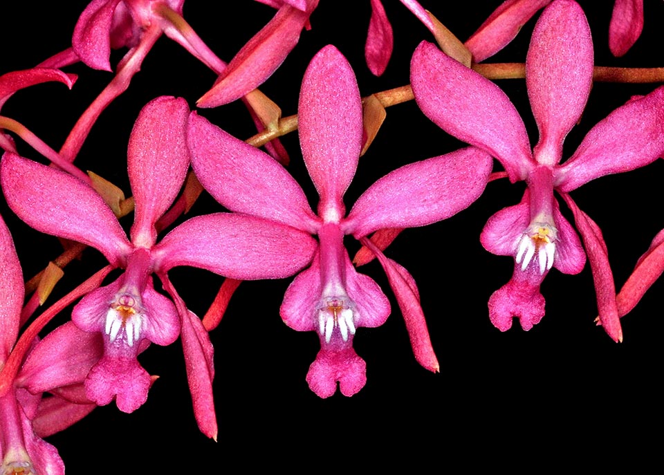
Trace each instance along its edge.
{"label": "narrow drooping lower-right sepal of the rightmost full orchid flower", "polygon": [[611,266],[609,266],[607,247],[600,227],[579,209],[568,194],[562,194],[562,197],[574,214],[576,227],[581,233],[588,253],[590,268],[593,271],[593,281],[595,282],[600,324],[615,342],[622,342],[623,329],[620,327],[618,305],[616,304],[614,274],[611,272]]}

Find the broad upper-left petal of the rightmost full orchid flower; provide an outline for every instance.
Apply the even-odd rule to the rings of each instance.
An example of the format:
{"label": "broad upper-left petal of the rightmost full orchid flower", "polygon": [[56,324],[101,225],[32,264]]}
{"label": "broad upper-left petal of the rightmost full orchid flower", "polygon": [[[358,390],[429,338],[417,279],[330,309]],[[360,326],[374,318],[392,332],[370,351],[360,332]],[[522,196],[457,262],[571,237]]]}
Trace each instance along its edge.
{"label": "broad upper-left petal of the rightmost full orchid flower", "polygon": [[415,50],[410,79],[418,106],[441,129],[495,156],[511,181],[526,177],[534,165],[526,127],[498,86],[427,41]]}

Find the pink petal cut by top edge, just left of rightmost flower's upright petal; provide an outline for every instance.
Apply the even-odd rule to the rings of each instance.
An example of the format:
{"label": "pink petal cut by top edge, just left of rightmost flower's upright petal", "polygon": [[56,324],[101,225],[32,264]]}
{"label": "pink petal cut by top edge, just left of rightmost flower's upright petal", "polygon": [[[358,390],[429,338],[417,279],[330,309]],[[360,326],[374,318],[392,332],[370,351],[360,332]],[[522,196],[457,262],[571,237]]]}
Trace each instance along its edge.
{"label": "pink petal cut by top edge, just left of rightmost flower's upright petal", "polygon": [[472,34],[465,47],[476,63],[498,53],[512,41],[526,21],[551,0],[507,0]]}

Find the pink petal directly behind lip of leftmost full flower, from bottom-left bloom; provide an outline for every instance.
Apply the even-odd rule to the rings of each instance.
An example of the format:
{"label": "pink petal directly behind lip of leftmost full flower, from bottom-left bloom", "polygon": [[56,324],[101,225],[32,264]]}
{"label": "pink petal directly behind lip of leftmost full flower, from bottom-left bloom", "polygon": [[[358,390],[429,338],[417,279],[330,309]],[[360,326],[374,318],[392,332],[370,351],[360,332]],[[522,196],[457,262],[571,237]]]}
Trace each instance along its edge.
{"label": "pink petal directly behind lip of leftmost full flower, from bottom-left bloom", "polygon": [[103,353],[98,333],[87,333],[68,322],[35,346],[17,381],[35,394],[82,382]]}

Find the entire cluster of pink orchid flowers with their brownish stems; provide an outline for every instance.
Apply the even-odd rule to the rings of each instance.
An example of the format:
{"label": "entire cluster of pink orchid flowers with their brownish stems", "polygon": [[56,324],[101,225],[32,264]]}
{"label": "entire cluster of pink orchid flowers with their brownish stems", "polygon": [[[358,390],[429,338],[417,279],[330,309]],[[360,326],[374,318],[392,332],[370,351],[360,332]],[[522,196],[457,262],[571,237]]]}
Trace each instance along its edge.
{"label": "entire cluster of pink orchid flowers with their brownish stems", "polygon": [[[317,335],[320,350],[312,355],[306,382],[320,398],[338,392],[351,396],[367,384],[367,374],[371,381],[364,359],[369,355],[353,344],[371,335],[361,328],[384,324],[394,303],[416,362],[434,373],[445,371],[448,362],[439,360],[434,348],[440,353],[436,342],[450,335],[436,335],[443,326],[432,326],[432,319],[441,316],[423,304],[430,297],[421,295],[416,279],[436,279],[440,301],[458,299],[444,295],[447,279],[457,272],[454,265],[463,262],[482,280],[493,272],[492,261],[450,259],[448,268],[423,275],[388,256],[402,232],[398,245],[419,259],[453,254],[444,234],[433,248],[407,243],[409,228],[451,218],[445,232],[465,232],[455,230],[457,214],[499,183],[517,187],[523,181],[522,199],[499,203],[502,209],[483,217],[479,243],[492,254],[512,257],[513,274],[487,296],[486,315],[463,318],[488,316],[501,331],[518,320],[531,330],[545,314],[547,292],[540,288],[548,273],[555,268],[578,274],[589,267],[596,313],[579,311],[578,318],[600,326],[615,342],[629,338],[620,318],[637,307],[663,272],[664,232],[630,263],[634,271],[625,282],[616,282],[607,245],[611,236],[605,241],[600,223],[573,196],[593,180],[653,167],[664,156],[664,86],[656,84],[664,82],[662,72],[600,67],[593,56],[600,41],[616,57],[629,55],[643,30],[642,1],[615,1],[607,39],[591,31],[582,6],[573,0],[507,0],[477,23],[479,29],[465,44],[443,26],[451,13],[442,4],[427,5],[434,9],[430,12],[417,1],[393,2],[419,28],[410,63],[389,66],[409,71],[410,85],[372,94],[358,85],[356,71],[368,68],[381,76],[394,62],[390,57],[399,39],[383,3],[367,1],[366,9],[347,12],[358,16],[371,10],[364,49],[359,46],[365,62],[353,64],[334,44],[317,48],[297,77],[297,111],[288,117],[256,88],[268,90],[291,52],[304,47],[306,31],[323,21],[317,13],[325,2],[261,0],[276,9],[273,19],[228,64],[206,43],[214,40],[187,23],[184,3],[93,0],[80,12],[71,46],[0,76],[0,107],[15,93],[9,104],[20,106],[37,84],[85,88],[81,72],[88,68],[107,71],[111,78],[59,138],[59,149],[48,145],[57,139],[40,138],[29,123],[0,115],[0,185],[7,205],[0,219],[0,475],[64,473],[57,449],[43,439],[100,406],[114,404],[124,413],[142,407],[160,382],[139,360],[158,351],[151,343],[168,346],[178,338],[196,424],[216,440],[223,429],[213,395],[211,337],[223,332],[221,318],[234,292],[252,285],[242,281],[289,279],[280,306],[275,302],[267,313],[245,307],[241,318],[262,326],[280,315],[287,326]],[[526,56],[490,63],[517,33],[525,34],[519,29],[526,24],[534,25]],[[151,50],[162,36],[202,64],[210,84],[195,97],[173,89],[134,104],[133,129],[122,146],[125,174],[102,147],[93,150],[91,136],[118,140],[116,131],[103,128],[106,109],[131,91],[139,71],[149,69]],[[515,106],[513,91],[500,81],[507,78],[519,81],[532,114]],[[596,116],[591,89],[598,81],[643,82],[649,89],[635,89],[622,105],[591,122],[587,115]],[[154,89],[161,91],[156,84]],[[229,109],[237,101],[246,110]],[[433,124],[421,136],[389,136],[387,107],[408,101]],[[232,122],[220,119],[225,109],[246,115],[255,127],[250,138],[229,132]],[[529,125],[531,118],[537,131]],[[575,150],[565,145],[573,130],[582,130]],[[299,149],[291,142],[293,131]],[[412,144],[412,153],[398,157],[399,165],[375,183],[362,182],[365,191],[355,194],[353,179],[380,167],[371,158],[371,145],[382,135],[394,140],[395,153],[404,149],[396,142],[404,140]],[[447,148],[418,155],[417,145],[435,149],[441,137]],[[83,171],[78,164],[95,154],[104,167],[88,160],[91,171]],[[102,177],[95,169],[113,174]],[[131,196],[125,197],[122,188]],[[25,232],[13,229],[16,217],[35,230],[33,236],[39,232],[39,239],[59,238],[55,254],[47,246],[34,253],[43,261],[30,257],[42,270],[27,281],[19,263],[25,245],[17,241],[15,248],[12,241],[12,234]],[[652,220],[658,221],[657,214]],[[103,259],[86,248],[98,250]],[[87,275],[70,271],[74,259],[93,261],[96,268]],[[371,267],[374,259],[384,273],[369,277],[377,268]],[[183,289],[173,277],[182,267],[207,272],[197,279],[218,283],[216,297],[207,284],[196,288],[198,293]],[[477,299],[472,290],[463,298]],[[194,311],[201,313],[200,299],[208,303],[202,316]],[[441,308],[445,304],[436,310]],[[233,311],[240,313],[235,308],[229,314]],[[250,342],[247,348],[261,351]],[[260,356],[266,364],[279,357]],[[160,371],[153,366],[150,371]]]}

